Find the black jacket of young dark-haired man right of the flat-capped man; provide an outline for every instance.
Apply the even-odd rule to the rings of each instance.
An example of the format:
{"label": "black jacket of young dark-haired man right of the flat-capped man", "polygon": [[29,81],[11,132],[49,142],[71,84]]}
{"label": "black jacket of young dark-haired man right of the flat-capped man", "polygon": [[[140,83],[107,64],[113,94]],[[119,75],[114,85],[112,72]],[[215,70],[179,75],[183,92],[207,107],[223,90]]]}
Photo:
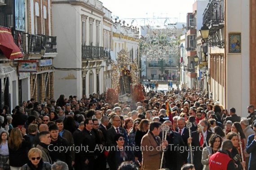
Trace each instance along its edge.
{"label": "black jacket of young dark-haired man right of the flat-capped man", "polygon": [[[54,150],[55,148],[60,149],[60,147],[64,147],[64,151]],[[66,139],[58,136],[57,141],[51,141],[51,144],[48,146],[49,154],[53,162],[60,160],[66,162],[69,170],[72,170],[72,158],[71,158],[71,150],[69,149],[69,143]],[[54,148],[55,147],[55,148]],[[53,149],[54,148],[54,149]]]}

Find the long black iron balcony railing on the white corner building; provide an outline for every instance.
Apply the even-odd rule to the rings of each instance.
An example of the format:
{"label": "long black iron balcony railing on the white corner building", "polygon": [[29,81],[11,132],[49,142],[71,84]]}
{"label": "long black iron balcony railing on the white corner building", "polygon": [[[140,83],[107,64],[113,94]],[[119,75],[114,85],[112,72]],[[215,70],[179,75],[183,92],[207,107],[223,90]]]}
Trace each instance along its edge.
{"label": "long black iron balcony railing on the white corner building", "polygon": [[103,59],[108,58],[104,55],[103,47],[82,45],[82,59]]}

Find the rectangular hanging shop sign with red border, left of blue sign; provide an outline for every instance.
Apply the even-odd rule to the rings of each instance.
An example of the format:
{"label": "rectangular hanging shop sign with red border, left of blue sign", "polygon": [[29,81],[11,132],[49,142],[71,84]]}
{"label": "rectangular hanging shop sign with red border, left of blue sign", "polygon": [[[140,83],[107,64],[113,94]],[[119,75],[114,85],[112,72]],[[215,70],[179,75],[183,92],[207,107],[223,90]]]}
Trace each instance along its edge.
{"label": "rectangular hanging shop sign with red border, left of blue sign", "polygon": [[37,72],[37,60],[18,61],[18,72]]}

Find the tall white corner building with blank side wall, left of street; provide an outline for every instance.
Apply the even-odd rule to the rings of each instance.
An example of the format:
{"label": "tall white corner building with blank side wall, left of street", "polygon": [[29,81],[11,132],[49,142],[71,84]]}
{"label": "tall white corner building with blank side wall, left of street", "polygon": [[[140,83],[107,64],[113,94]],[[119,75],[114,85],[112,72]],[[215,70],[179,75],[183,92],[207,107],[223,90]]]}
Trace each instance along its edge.
{"label": "tall white corner building with blank side wall, left of street", "polygon": [[[53,0],[53,33],[58,55],[54,61],[54,97],[104,92],[103,5],[98,0]],[[106,70],[105,70],[106,71]]]}

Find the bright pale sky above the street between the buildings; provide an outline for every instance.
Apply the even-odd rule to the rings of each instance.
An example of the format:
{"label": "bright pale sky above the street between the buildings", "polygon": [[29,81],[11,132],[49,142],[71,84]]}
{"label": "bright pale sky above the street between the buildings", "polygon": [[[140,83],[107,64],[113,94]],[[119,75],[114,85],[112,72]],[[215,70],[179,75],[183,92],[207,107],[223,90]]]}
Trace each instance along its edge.
{"label": "bright pale sky above the street between the buildings", "polygon": [[124,18],[177,18],[186,22],[196,0],[100,0],[112,16]]}

